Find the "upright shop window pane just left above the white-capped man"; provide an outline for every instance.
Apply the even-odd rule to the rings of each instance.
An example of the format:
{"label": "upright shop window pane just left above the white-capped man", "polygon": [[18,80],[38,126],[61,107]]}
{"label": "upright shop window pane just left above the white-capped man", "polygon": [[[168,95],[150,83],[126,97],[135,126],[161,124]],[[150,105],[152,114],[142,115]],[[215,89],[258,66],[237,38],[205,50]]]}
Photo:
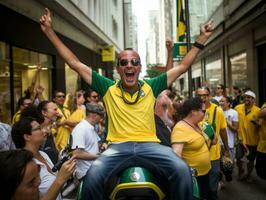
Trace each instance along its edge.
{"label": "upright shop window pane just left above the white-capped man", "polygon": [[230,57],[232,85],[239,88],[247,87],[247,53],[242,52]]}

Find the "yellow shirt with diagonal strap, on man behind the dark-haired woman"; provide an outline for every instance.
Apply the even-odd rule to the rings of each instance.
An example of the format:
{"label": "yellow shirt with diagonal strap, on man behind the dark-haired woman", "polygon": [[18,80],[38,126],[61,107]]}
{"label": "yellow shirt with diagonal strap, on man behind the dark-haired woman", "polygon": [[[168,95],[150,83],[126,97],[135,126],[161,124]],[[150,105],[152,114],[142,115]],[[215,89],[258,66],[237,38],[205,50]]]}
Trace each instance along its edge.
{"label": "yellow shirt with diagonal strap, on man behind the dark-haired woman", "polygon": [[211,103],[210,107],[206,109],[203,122],[208,122],[210,125],[214,126],[212,122],[213,122],[215,107],[216,107],[215,136],[218,139],[218,141],[215,145],[212,145],[210,148],[211,160],[218,160],[221,157],[220,130],[226,129],[227,127],[226,118],[224,116],[223,110],[214,103]]}

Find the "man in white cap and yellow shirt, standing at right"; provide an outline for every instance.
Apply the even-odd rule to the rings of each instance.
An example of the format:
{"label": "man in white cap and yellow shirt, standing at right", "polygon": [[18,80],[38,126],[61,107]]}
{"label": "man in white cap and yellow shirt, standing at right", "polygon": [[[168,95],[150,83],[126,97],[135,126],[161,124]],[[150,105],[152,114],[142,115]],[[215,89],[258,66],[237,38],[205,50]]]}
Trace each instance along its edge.
{"label": "man in white cap and yellow shirt, standing at right", "polygon": [[246,152],[248,152],[246,162],[247,173],[245,173],[243,162],[237,158],[237,164],[239,168],[239,179],[250,180],[250,175],[254,168],[254,161],[257,153],[257,145],[259,141],[258,134],[258,113],[260,108],[255,105],[256,95],[251,90],[244,93],[244,99],[242,104],[235,107],[239,117],[239,129],[238,140],[243,145]]}

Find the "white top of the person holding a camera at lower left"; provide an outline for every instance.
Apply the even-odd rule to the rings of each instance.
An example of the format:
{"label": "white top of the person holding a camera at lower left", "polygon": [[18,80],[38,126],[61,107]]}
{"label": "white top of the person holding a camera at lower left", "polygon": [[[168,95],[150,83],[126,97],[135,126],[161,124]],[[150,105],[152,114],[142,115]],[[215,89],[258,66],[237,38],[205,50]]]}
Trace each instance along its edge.
{"label": "white top of the person holding a camera at lower left", "polygon": [[[44,160],[46,161],[47,165],[52,169],[53,168],[53,163],[50,160],[49,156],[44,153],[43,151],[39,151],[40,154],[42,155],[42,157],[44,158]],[[40,166],[40,178],[41,178],[41,184],[39,185],[39,191],[40,191],[40,196],[43,197],[47,191],[49,190],[49,188],[51,187],[51,185],[53,184],[57,173],[50,173],[47,170],[47,167],[44,163],[40,162],[39,160],[34,158],[34,161],[37,165]],[[59,193],[59,195],[57,196],[56,200],[61,200],[61,194]]]}

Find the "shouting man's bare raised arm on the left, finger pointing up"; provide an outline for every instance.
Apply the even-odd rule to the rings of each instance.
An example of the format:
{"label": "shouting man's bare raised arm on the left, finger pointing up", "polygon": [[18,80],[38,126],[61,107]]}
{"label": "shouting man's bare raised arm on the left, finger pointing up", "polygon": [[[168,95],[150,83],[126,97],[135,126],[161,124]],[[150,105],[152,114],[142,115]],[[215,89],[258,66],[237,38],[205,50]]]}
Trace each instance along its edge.
{"label": "shouting man's bare raised arm on the left, finger pointing up", "polygon": [[75,70],[86,83],[91,84],[91,68],[80,62],[76,55],[59,39],[52,28],[52,18],[50,10],[48,8],[45,8],[44,11],[45,13],[40,18],[40,26],[43,33],[52,42],[60,56],[71,67],[71,69]]}

